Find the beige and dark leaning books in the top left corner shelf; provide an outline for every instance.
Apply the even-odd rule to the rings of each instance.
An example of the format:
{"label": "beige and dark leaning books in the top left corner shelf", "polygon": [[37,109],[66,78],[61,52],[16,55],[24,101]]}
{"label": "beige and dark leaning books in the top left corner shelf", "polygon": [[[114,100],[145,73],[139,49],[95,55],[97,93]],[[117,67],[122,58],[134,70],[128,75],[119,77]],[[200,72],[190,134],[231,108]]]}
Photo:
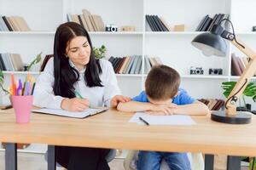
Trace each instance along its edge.
{"label": "beige and dark leaning books in the top left corner shelf", "polygon": [[1,16],[0,31],[31,31],[21,16]]}

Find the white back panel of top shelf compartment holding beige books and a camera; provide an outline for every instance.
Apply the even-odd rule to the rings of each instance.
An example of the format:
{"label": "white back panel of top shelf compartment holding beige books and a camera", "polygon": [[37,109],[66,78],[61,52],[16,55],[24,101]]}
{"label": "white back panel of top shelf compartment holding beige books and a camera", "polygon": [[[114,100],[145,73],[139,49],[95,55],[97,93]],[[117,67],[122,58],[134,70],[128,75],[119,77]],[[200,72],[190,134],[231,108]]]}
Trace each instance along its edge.
{"label": "white back panel of top shelf compartment holding beige books and a camera", "polygon": [[143,31],[143,0],[71,0],[72,14],[82,14],[83,8],[101,15],[105,25],[136,26],[136,31]]}

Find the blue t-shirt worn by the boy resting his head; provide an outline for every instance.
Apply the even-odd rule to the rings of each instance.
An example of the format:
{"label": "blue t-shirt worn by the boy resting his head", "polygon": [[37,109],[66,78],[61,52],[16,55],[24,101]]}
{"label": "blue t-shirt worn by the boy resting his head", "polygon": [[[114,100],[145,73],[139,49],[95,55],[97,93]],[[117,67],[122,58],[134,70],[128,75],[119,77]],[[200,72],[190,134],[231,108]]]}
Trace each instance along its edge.
{"label": "blue t-shirt worn by the boy resting his head", "polygon": [[[143,91],[138,96],[132,99],[133,101],[149,102],[147,94]],[[188,105],[195,102],[195,99],[189,96],[189,94],[182,88],[178,89],[178,94],[172,99],[172,103],[176,105]]]}

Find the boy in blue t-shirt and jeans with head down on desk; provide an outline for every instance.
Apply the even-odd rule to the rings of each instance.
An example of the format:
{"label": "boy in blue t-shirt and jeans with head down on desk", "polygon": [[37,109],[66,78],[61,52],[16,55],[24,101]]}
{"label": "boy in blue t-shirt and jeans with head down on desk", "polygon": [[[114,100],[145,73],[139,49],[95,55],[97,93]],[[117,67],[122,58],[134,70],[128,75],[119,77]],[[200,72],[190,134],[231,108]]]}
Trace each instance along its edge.
{"label": "boy in blue t-shirt and jeans with head down on desk", "polygon": [[[183,89],[178,88],[180,76],[169,66],[156,65],[148,73],[145,91],[126,103],[119,103],[119,111],[145,111],[152,115],[206,115],[206,105],[191,98]],[[189,170],[186,153],[139,151],[138,170],[160,169],[165,160],[170,169]]]}

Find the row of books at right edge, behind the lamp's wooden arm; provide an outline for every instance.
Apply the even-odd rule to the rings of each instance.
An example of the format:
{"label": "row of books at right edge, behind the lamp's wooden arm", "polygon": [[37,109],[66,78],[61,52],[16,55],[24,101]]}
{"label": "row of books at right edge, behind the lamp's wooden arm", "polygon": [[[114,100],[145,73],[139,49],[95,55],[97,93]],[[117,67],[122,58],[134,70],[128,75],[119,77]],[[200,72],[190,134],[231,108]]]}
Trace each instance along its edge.
{"label": "row of books at right edge, behind the lamp's wooden arm", "polygon": [[[231,54],[231,76],[241,76],[249,62],[247,57],[237,57],[236,54]],[[254,73],[256,76],[256,71]]]}

